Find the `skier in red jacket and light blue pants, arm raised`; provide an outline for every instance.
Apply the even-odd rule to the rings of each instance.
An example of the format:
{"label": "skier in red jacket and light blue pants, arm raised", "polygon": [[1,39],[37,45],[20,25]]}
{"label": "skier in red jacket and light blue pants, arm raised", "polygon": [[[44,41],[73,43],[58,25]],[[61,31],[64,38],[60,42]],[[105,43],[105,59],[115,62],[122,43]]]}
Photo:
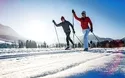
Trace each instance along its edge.
{"label": "skier in red jacket and light blue pants, arm raised", "polygon": [[[81,13],[82,14],[81,18],[77,17],[74,10],[72,10],[72,13],[73,13],[75,19],[81,23],[81,27],[82,27],[83,34],[84,34],[84,41],[83,41],[84,42],[84,51],[88,51],[88,34],[89,34],[89,31],[93,32],[93,25],[92,25],[91,19],[86,16],[85,11],[83,11]],[[90,26],[89,26],[89,24],[90,24]]]}

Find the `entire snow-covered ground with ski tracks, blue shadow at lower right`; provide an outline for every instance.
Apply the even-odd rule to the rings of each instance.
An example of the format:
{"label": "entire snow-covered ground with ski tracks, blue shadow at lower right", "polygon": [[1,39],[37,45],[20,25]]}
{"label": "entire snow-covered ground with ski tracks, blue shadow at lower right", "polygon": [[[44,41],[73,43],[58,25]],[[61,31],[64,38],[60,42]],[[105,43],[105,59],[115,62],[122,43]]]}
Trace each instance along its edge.
{"label": "entire snow-covered ground with ski tracks, blue shadow at lower right", "polygon": [[125,48],[0,49],[0,78],[125,78]]}

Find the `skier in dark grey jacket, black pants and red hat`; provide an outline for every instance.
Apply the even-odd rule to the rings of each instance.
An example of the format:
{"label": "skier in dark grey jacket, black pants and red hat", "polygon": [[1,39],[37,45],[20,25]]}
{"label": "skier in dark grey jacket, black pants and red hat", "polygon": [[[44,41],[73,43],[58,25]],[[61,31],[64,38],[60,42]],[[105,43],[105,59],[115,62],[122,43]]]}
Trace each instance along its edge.
{"label": "skier in dark grey jacket, black pants and red hat", "polygon": [[61,17],[61,23],[59,23],[59,24],[56,24],[56,22],[53,20],[52,22],[57,26],[57,27],[59,27],[59,26],[62,26],[62,28],[63,28],[63,30],[64,30],[64,32],[65,32],[65,34],[66,34],[66,42],[67,42],[67,48],[66,49],[69,49],[69,41],[72,43],[72,45],[73,45],[73,48],[74,48],[74,42],[71,40],[71,38],[70,38],[70,27],[69,26],[71,26],[71,28],[72,28],[72,30],[73,30],[73,33],[75,33],[75,30],[74,30],[74,27],[73,27],[73,25],[69,22],[69,21],[67,21],[67,20],[65,20],[65,18],[62,16]]}

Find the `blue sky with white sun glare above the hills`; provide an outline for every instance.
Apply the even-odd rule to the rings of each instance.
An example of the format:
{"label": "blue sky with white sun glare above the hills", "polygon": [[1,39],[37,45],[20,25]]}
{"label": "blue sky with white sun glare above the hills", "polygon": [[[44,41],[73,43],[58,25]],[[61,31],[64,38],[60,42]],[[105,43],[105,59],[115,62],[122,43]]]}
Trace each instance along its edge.
{"label": "blue sky with white sun glare above the hills", "polygon": [[[96,35],[125,37],[125,0],[0,0],[0,23],[29,39],[52,42],[56,38],[52,20],[59,23],[64,16],[72,23],[72,9],[79,17],[87,12]],[[61,27],[57,30],[59,37],[65,37]],[[75,30],[83,35],[77,20]]]}

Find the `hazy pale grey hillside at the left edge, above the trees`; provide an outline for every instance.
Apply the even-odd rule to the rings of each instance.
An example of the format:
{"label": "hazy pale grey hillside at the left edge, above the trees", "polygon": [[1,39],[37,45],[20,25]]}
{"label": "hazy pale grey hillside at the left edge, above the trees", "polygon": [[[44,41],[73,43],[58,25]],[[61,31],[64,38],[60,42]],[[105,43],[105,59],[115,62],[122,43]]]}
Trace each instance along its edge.
{"label": "hazy pale grey hillside at the left edge, above the trees", "polygon": [[0,40],[13,42],[17,40],[25,40],[25,38],[20,36],[16,31],[14,31],[9,26],[4,26],[0,24]]}

